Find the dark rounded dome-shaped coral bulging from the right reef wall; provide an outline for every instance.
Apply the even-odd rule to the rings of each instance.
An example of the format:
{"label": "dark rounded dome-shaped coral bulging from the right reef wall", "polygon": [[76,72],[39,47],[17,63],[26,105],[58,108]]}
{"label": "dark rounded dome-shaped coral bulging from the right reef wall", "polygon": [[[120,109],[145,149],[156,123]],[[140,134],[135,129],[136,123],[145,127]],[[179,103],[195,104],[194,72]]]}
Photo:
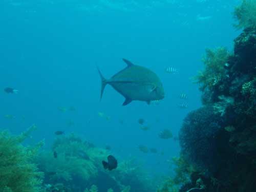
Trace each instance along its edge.
{"label": "dark rounded dome-shaped coral bulging from the right reef wall", "polygon": [[197,167],[216,169],[221,159],[218,152],[218,135],[223,118],[211,105],[190,112],[180,130],[181,154]]}

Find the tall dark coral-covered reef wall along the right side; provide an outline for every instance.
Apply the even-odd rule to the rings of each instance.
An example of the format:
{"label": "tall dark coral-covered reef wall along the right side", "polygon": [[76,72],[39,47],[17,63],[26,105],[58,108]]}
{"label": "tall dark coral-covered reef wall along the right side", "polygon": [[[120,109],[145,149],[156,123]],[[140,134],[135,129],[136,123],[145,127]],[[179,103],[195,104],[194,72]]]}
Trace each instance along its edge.
{"label": "tall dark coral-covered reef wall along the right side", "polygon": [[197,77],[204,106],[187,115],[180,131],[181,155],[197,171],[188,174],[180,192],[255,191],[255,5],[243,1],[234,13],[244,28],[234,39],[234,54],[206,53],[210,59]]}

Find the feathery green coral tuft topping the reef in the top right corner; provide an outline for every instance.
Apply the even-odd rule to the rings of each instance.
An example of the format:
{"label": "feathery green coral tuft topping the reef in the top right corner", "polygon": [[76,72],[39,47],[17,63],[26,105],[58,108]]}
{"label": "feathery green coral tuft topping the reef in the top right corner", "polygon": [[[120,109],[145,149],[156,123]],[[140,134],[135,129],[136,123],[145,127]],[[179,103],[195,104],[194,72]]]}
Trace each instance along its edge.
{"label": "feathery green coral tuft topping the reef in the top right corner", "polygon": [[234,18],[238,20],[234,25],[238,29],[256,28],[256,0],[243,0],[234,10]]}

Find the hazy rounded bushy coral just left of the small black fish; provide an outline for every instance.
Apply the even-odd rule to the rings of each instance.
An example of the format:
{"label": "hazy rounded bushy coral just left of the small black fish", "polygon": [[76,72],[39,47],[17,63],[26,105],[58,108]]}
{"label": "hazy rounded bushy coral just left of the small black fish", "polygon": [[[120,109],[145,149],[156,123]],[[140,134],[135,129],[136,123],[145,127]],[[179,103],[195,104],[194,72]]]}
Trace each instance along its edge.
{"label": "hazy rounded bushy coral just left of the small black fish", "polygon": [[[98,168],[89,155],[90,145],[71,134],[58,137],[52,146],[53,152],[42,152],[37,159],[38,167],[45,172],[46,183],[76,183],[81,188],[98,174]],[[82,185],[80,185],[82,183]]]}

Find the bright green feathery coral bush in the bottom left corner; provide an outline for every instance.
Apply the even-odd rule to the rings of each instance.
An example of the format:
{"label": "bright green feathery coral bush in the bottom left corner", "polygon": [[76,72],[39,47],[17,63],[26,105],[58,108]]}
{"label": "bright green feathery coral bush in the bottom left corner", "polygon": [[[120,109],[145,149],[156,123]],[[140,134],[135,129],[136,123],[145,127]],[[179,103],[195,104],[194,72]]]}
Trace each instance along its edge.
{"label": "bright green feathery coral bush in the bottom left corner", "polygon": [[31,161],[36,156],[41,143],[34,148],[24,147],[21,144],[34,129],[33,125],[27,132],[16,137],[6,131],[0,133],[0,191],[40,190],[43,175]]}

